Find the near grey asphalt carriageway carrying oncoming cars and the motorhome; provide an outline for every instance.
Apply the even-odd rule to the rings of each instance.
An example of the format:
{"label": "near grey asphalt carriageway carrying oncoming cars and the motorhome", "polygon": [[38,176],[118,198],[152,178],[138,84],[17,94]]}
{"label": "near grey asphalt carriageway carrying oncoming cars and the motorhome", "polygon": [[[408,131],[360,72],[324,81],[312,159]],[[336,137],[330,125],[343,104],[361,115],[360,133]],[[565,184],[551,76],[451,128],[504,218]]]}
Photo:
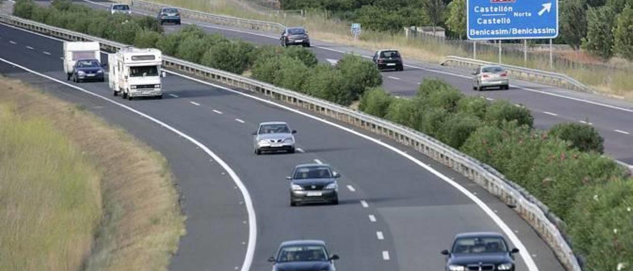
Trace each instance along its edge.
{"label": "near grey asphalt carriageway carrying oncoming cars and the motorhome", "polygon": [[[57,39],[0,24],[0,73],[85,104],[166,156],[187,215],[187,235],[172,270],[239,270],[250,260],[250,270],[269,270],[266,258],[288,239],[324,240],[341,256],[339,270],[441,270],[439,251],[453,236],[480,230],[502,232],[525,248],[517,255],[517,270],[563,270],[513,210],[412,149],[173,72],[163,79],[164,99],[127,101],[113,97],[107,83],[66,81],[61,50]],[[253,154],[251,132],[269,120],[298,130],[301,151]],[[314,162],[341,173],[340,205],[289,206],[284,177],[295,165]],[[253,213],[235,177],[253,202],[256,243],[248,243]],[[250,246],[253,258],[245,260]]]}

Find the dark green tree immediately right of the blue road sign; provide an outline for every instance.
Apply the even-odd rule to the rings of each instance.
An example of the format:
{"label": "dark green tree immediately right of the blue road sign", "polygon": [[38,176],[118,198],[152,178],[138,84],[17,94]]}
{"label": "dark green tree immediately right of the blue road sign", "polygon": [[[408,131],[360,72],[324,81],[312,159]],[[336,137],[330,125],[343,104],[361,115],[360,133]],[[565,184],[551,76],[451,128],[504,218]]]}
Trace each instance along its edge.
{"label": "dark green tree immediately right of the blue road sign", "polygon": [[587,17],[584,0],[565,0],[561,3],[560,26],[563,41],[574,49],[580,47],[587,34]]}

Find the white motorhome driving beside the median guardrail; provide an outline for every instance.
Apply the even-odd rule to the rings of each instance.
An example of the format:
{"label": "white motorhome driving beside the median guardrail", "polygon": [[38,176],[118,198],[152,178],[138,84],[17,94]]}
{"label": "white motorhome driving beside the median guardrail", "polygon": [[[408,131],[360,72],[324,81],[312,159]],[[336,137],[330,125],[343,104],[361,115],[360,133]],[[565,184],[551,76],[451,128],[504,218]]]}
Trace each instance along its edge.
{"label": "white motorhome driving beside the median guardrail", "polygon": [[163,98],[161,71],[163,54],[158,49],[138,49],[124,47],[120,51],[108,54],[110,76],[108,84],[114,96],[121,94],[123,99],[135,97]]}

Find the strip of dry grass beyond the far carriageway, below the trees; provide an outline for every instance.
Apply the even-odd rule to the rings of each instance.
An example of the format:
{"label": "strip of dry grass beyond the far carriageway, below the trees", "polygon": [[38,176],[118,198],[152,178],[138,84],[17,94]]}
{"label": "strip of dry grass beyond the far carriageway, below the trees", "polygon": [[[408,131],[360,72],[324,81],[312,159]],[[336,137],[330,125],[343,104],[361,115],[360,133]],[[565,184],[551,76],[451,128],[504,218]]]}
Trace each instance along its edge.
{"label": "strip of dry grass beyond the far carriageway, below the trees", "polygon": [[[402,33],[390,34],[388,32],[363,30],[360,39],[354,42],[353,37],[349,34],[349,22],[332,18],[318,11],[311,11],[305,17],[292,15],[272,16],[264,15],[262,12],[253,11],[252,9],[245,9],[242,4],[232,0],[146,1],[241,18],[278,22],[288,26],[304,26],[310,31],[311,37],[319,41],[334,42],[369,50],[394,47],[398,48],[403,56],[413,60],[437,63],[449,55],[472,57],[472,52],[465,51],[453,44],[433,40],[407,39]],[[481,50],[477,53],[477,58],[497,62],[498,54],[494,50]],[[573,61],[560,61],[556,62],[554,68],[551,69],[546,58],[530,58],[527,63],[524,63],[522,56],[512,54],[503,54],[502,61],[511,65],[525,65],[529,68],[564,73],[591,86],[596,91],[633,101],[633,77],[629,76],[630,68],[609,69],[599,65],[582,65],[580,63],[573,65]],[[630,65],[625,66],[630,67]]]}

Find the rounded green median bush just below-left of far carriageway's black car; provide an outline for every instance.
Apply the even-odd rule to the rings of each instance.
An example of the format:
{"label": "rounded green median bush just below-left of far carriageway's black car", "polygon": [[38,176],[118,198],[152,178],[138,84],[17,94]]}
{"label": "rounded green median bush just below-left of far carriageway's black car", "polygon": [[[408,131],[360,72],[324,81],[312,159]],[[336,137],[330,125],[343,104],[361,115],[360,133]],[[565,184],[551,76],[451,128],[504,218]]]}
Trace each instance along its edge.
{"label": "rounded green median bush just below-left of far carriageway's black car", "polygon": [[345,77],[345,89],[354,100],[360,98],[365,89],[382,85],[382,75],[376,65],[361,56],[346,54],[338,61],[336,68]]}

